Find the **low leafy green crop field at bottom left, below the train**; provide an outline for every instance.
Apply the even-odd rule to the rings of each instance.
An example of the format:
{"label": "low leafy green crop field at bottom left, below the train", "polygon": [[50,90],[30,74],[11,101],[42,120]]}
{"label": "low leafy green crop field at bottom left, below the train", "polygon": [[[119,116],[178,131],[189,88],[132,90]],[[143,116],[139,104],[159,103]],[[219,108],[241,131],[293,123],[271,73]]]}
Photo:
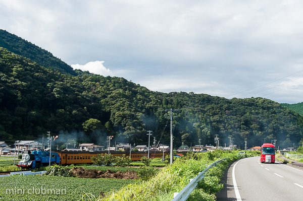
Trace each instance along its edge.
{"label": "low leafy green crop field at bottom left, below the train", "polygon": [[118,190],[134,182],[136,181],[131,179],[86,179],[36,175],[0,177],[0,200],[75,201],[81,200],[85,193],[98,197],[100,194]]}

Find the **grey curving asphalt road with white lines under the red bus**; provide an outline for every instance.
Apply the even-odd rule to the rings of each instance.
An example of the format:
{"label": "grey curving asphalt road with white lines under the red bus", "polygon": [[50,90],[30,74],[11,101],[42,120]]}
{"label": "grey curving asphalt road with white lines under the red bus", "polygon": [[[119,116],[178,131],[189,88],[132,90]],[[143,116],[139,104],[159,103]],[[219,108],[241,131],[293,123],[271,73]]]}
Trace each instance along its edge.
{"label": "grey curving asphalt road with white lines under the red bus", "polygon": [[281,163],[260,163],[260,157],[233,163],[217,200],[303,200],[303,170]]}

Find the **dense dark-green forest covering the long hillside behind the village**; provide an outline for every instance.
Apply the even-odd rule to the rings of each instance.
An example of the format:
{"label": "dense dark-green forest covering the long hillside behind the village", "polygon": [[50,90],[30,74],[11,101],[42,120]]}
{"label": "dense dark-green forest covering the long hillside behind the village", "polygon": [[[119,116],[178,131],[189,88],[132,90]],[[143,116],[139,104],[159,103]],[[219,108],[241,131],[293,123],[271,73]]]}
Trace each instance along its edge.
{"label": "dense dark-green forest covering the long hillside behind the village", "polygon": [[51,131],[61,143],[105,145],[113,135],[116,142],[143,145],[153,130],[157,141],[169,144],[170,108],[177,109],[176,147],[199,139],[214,145],[215,135],[223,146],[232,137],[242,148],[244,139],[248,147],[274,139],[289,147],[303,138],[303,118],[268,99],[153,92],[124,78],[69,72],[51,53],[6,31],[0,41],[0,141],[37,140]]}

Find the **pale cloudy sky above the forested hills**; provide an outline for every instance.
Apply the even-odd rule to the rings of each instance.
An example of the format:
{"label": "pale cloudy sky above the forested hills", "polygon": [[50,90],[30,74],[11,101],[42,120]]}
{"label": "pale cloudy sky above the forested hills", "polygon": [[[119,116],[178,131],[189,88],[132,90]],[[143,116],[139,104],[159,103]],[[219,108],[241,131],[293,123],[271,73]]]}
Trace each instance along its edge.
{"label": "pale cloudy sky above the forested hills", "polygon": [[0,29],[153,91],[303,101],[302,1],[10,1]]}

